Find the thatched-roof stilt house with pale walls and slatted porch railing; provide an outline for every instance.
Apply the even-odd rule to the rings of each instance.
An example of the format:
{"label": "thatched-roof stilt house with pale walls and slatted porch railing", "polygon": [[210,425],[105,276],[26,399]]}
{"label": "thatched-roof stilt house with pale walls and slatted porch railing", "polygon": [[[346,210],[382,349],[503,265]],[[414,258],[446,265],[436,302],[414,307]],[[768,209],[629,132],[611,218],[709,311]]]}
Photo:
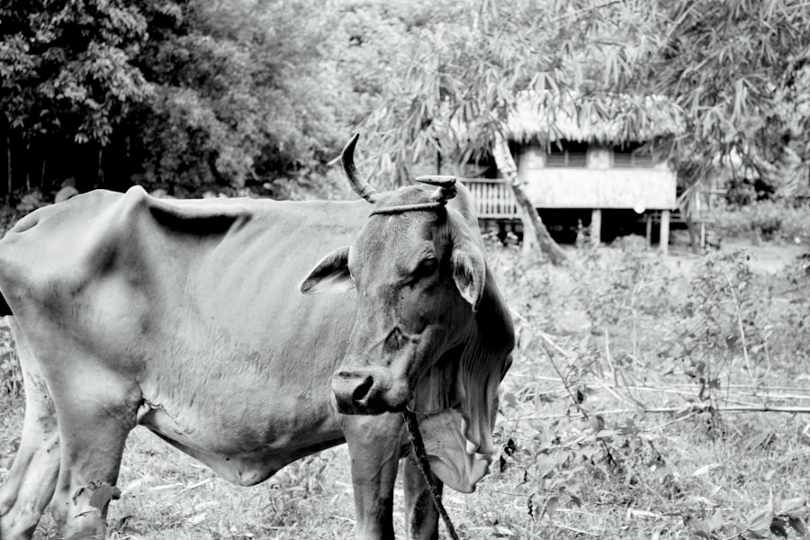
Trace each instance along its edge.
{"label": "thatched-roof stilt house with pale walls and slatted porch railing", "polygon": [[[509,120],[518,177],[541,216],[578,216],[599,242],[611,216],[624,211],[626,219],[633,211],[636,222],[646,220],[648,241],[653,222],[660,222],[664,250],[676,206],[676,174],[656,144],[682,130],[680,108],[651,96],[599,101],[525,96]],[[500,179],[465,182],[482,219],[518,219],[509,185]]]}

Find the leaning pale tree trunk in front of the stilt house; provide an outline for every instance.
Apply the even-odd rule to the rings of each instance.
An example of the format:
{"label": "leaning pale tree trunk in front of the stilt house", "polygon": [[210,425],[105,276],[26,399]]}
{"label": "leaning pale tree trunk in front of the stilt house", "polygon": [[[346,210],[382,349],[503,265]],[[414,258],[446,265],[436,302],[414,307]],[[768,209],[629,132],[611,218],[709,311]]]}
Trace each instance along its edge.
{"label": "leaning pale tree trunk in front of the stilt house", "polygon": [[518,166],[515,164],[515,158],[509,151],[509,143],[501,135],[495,138],[495,145],[492,148],[492,155],[495,157],[495,165],[498,166],[500,175],[512,187],[512,193],[515,194],[515,201],[518,202],[518,207],[521,211],[520,219],[523,221],[523,241],[527,241],[527,236],[532,235],[537,240],[537,245],[545,253],[546,257],[552,262],[553,265],[563,265],[568,261],[563,249],[557,245],[554,238],[548,234],[548,229],[545,229],[543,221],[537,215],[535,206],[529,201],[523,186],[520,184],[518,178]]}

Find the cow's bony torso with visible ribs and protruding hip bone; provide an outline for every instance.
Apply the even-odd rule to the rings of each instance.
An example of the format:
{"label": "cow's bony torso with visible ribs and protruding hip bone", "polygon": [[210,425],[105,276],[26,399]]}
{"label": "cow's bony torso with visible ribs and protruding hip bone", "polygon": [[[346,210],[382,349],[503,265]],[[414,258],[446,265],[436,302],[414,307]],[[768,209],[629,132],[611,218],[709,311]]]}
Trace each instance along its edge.
{"label": "cow's bony torso with visible ribs and protruding hip bone", "polygon": [[[298,284],[367,211],[87,193],[0,241],[0,292],[42,362],[131,381],[141,423],[229,480],[259,482],[341,440],[329,376],[354,292],[310,297]],[[54,358],[64,340],[82,357]]]}

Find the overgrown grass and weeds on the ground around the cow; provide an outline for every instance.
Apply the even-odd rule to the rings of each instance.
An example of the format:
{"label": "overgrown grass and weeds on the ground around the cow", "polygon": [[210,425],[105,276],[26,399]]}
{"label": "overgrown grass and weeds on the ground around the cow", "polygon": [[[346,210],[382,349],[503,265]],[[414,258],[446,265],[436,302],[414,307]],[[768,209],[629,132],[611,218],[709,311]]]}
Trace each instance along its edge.
{"label": "overgrown grass and weeds on the ground around the cow", "polygon": [[[561,269],[492,245],[519,346],[502,386],[500,461],[473,494],[446,491],[460,534],[725,540],[774,526],[797,537],[810,416],[731,409],[810,410],[810,276],[798,253],[662,259],[628,242],[572,251]],[[3,399],[0,478],[22,423],[22,401]],[[119,486],[113,538],[353,537],[343,446],[238,488],[138,428]],[[57,537],[49,520],[36,537]]]}

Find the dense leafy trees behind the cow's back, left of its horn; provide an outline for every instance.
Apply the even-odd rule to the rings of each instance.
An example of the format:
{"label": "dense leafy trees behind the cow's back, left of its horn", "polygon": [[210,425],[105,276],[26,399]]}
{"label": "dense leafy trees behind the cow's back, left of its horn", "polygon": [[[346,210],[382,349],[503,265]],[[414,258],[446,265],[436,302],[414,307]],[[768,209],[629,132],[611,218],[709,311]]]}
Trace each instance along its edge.
{"label": "dense leafy trees behind the cow's back, left of its horn", "polygon": [[344,105],[356,99],[339,71],[347,39],[333,5],[83,0],[3,9],[8,191],[49,193],[68,178],[80,191],[134,180],[180,195],[275,185],[334,157],[357,115]]}

